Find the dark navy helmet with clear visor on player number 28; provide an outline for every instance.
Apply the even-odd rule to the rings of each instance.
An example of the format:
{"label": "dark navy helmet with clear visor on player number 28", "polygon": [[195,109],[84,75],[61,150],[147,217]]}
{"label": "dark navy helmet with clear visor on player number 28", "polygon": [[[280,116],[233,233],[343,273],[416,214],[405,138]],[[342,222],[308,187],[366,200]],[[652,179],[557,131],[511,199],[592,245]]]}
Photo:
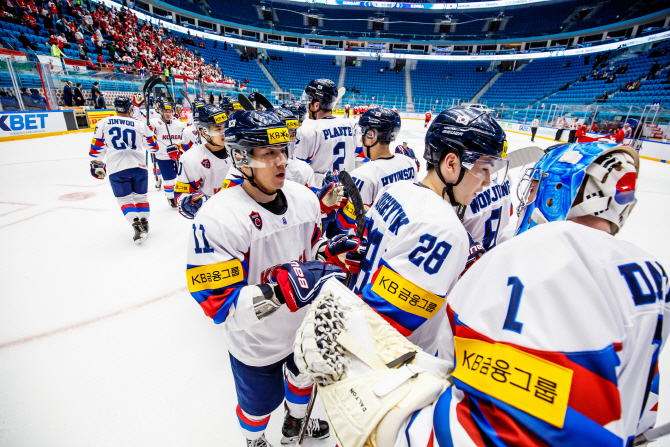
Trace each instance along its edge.
{"label": "dark navy helmet with clear visor on player number 28", "polygon": [[[496,173],[501,174],[501,178],[507,174],[505,131],[484,112],[462,106],[443,110],[428,128],[425,143],[423,158],[429,166],[435,167],[445,184],[443,196],[448,194],[453,205],[456,205],[453,187],[463,180],[465,170],[487,181]],[[439,169],[440,161],[449,153],[458,155],[461,162],[462,169],[455,183],[447,183]]]}

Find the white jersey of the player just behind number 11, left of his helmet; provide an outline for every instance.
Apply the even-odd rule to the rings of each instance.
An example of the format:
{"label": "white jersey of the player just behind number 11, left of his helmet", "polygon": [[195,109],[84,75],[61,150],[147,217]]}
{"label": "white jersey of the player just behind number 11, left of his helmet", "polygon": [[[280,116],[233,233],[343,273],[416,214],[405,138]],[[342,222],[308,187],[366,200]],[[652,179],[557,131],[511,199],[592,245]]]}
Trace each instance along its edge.
{"label": "white jersey of the player just behind number 11, left of his helmet", "polygon": [[175,201],[182,194],[202,191],[207,197],[219,192],[232,166],[230,157],[219,158],[204,144],[193,147],[179,159],[174,186]]}

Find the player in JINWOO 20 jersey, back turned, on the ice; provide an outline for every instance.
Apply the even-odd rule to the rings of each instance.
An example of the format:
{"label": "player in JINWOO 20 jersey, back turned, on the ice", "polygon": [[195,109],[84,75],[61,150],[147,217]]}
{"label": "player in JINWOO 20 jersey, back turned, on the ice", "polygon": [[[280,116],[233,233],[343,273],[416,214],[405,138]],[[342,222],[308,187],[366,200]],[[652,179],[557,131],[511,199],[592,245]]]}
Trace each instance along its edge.
{"label": "player in JINWOO 20 jersey, back turned, on the ice", "polygon": [[[132,102],[119,96],[114,100],[117,116],[108,116],[95,126],[89,155],[91,175],[109,183],[123,215],[133,226],[133,240],[144,242],[149,232],[148,175],[144,149],[157,147],[145,123],[130,117]],[[105,160],[105,164],[102,160]]]}

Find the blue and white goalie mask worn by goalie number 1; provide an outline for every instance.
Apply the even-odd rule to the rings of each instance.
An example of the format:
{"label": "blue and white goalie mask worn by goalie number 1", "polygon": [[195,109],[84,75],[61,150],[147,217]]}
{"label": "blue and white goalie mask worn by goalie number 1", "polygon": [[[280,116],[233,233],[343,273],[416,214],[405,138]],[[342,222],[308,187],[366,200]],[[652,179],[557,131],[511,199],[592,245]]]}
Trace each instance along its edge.
{"label": "blue and white goalie mask worn by goalie number 1", "polygon": [[572,143],[552,146],[517,187],[517,234],[536,225],[593,215],[616,234],[636,204],[639,156],[629,146]]}

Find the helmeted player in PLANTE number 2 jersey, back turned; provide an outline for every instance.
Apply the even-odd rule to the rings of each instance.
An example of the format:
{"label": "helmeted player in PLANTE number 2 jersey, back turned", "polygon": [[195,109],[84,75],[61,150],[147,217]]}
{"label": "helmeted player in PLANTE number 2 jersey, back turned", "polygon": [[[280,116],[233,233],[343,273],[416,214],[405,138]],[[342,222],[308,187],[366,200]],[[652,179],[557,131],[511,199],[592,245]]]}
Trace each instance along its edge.
{"label": "helmeted player in PLANTE number 2 jersey, back turned", "polygon": [[303,93],[314,124],[302,128],[295,156],[314,169],[317,183],[328,171],[353,171],[356,143],[351,123],[333,115],[338,101],[337,85],[330,79],[311,81]]}

